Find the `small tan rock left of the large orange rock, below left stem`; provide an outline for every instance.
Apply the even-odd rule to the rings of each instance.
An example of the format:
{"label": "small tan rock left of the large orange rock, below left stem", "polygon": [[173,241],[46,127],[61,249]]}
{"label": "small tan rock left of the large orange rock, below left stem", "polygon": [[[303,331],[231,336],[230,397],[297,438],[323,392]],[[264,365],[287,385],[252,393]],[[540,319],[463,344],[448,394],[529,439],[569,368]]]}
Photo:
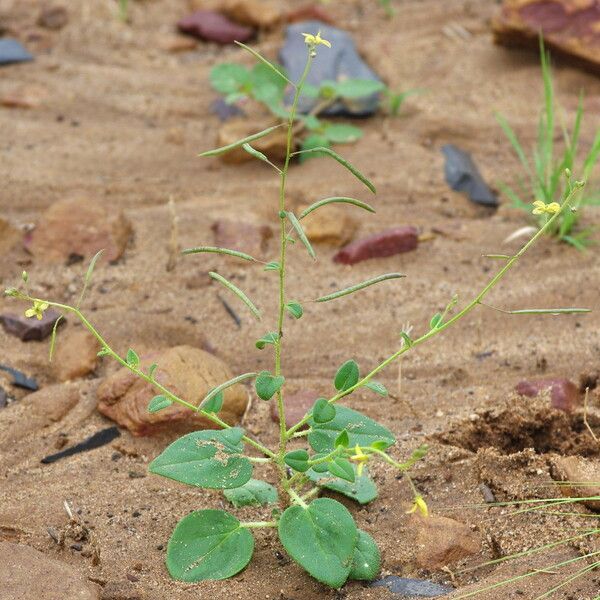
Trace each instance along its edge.
{"label": "small tan rock left of the large orange rock, below left stem", "polygon": [[56,340],[54,370],[60,381],[88,375],[98,362],[98,340],[83,328],[68,329]]}

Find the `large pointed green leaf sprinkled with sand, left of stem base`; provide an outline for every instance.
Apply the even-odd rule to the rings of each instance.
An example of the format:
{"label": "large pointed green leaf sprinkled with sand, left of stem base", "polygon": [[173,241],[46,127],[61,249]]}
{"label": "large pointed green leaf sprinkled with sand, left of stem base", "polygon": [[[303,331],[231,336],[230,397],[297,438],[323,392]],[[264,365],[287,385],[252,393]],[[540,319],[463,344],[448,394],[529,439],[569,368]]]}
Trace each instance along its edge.
{"label": "large pointed green leaf sprinkled with sand, left of stem base", "polygon": [[241,456],[243,435],[239,427],[188,433],[167,446],[148,470],[198,487],[240,487],[252,477],[252,463]]}

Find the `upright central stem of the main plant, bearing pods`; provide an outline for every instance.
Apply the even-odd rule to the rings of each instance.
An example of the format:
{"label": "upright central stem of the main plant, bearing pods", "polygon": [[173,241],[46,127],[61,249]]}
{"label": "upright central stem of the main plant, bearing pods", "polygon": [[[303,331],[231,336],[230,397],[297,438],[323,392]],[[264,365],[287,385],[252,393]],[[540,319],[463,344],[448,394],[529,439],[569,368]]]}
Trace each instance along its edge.
{"label": "upright central stem of the main plant, bearing pods", "polygon": [[[306,66],[300,81],[296,85],[294,92],[294,100],[292,108],[290,110],[290,117],[287,126],[287,146],[286,155],[283,168],[280,174],[280,186],[279,186],[279,225],[280,225],[280,256],[279,256],[279,312],[277,317],[277,342],[275,343],[275,376],[281,375],[281,343],[283,340],[283,320],[285,317],[285,259],[287,249],[287,231],[286,231],[286,213],[285,213],[285,186],[287,182],[287,174],[290,166],[290,159],[292,155],[292,143],[294,137],[294,121],[296,120],[296,111],[298,109],[298,101],[304,82],[310,71],[312,64],[312,53],[308,53],[306,60]],[[287,446],[288,438],[286,436],[286,424],[285,424],[285,406],[283,402],[283,391],[279,389],[277,391],[277,408],[279,410],[279,462],[283,465],[283,457]],[[285,474],[285,469],[283,470]]]}

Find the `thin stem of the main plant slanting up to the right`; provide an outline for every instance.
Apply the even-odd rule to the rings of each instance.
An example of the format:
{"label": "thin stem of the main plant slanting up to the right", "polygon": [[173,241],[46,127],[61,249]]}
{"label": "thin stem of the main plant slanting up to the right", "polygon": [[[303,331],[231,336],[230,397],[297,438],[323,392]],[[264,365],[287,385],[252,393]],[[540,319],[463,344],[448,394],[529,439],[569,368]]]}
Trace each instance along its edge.
{"label": "thin stem of the main plant slanting up to the right", "polygon": [[[481,290],[481,292],[479,292],[479,294],[477,294],[477,296],[475,296],[475,298],[473,298],[473,300],[471,300],[471,302],[469,302],[469,304],[467,304],[460,312],[458,312],[456,315],[454,315],[447,322],[442,323],[438,327],[429,330],[426,334],[422,335],[420,338],[413,340],[412,344],[410,344],[410,345],[404,344],[402,346],[402,348],[400,348],[397,352],[394,352],[394,354],[392,354],[391,356],[386,358],[382,363],[377,365],[377,367],[375,367],[368,375],[365,375],[365,377],[360,379],[352,387],[349,387],[348,389],[337,393],[335,396],[330,398],[328,400],[328,402],[330,404],[335,404],[338,400],[340,400],[344,396],[347,396],[348,394],[351,394],[354,390],[364,386],[377,373],[379,373],[380,371],[385,369],[390,363],[394,362],[398,357],[400,357],[403,354],[405,354],[406,352],[408,352],[411,348],[414,348],[415,346],[418,346],[419,344],[422,344],[423,342],[427,341],[428,339],[438,335],[439,333],[446,330],[451,325],[454,325],[454,323],[456,323],[457,321],[462,319],[464,316],[466,316],[468,313],[470,313],[475,307],[477,307],[479,304],[481,304],[481,301],[484,299],[486,294],[494,286],[496,286],[496,284],[506,275],[506,273],[514,266],[514,264],[523,256],[523,254],[525,254],[525,252],[527,252],[527,250],[529,250],[529,248],[531,246],[533,246],[533,244],[535,244],[537,242],[537,240],[544,235],[544,233],[546,233],[546,231],[558,219],[558,217],[563,213],[563,211],[565,211],[567,208],[569,208],[574,196],[577,194],[577,192],[579,192],[579,190],[582,187],[583,187],[583,184],[579,184],[579,185],[575,184],[575,186],[568,192],[567,196],[565,197],[565,200],[562,203],[560,210],[557,213],[555,213],[550,219],[548,219],[548,221],[541,227],[541,229],[539,229],[538,232],[514,256],[512,256],[506,262],[506,264],[496,273],[496,275],[494,275],[494,277],[492,277],[492,279]],[[289,439],[290,437],[292,437],[296,433],[296,431],[298,431],[298,429],[300,429],[302,426],[304,426],[308,422],[309,418],[310,417],[308,415],[306,415],[303,419],[301,419],[293,427],[290,427],[290,429],[288,429],[286,432],[287,438]]]}

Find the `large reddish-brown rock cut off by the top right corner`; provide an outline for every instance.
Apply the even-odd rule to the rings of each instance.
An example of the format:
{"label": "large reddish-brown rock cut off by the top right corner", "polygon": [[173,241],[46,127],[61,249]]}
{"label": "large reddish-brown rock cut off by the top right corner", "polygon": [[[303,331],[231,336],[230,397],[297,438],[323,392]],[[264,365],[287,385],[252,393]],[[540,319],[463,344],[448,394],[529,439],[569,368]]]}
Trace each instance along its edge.
{"label": "large reddish-brown rock cut off by the top right corner", "polygon": [[535,48],[543,33],[547,46],[600,70],[597,0],[504,0],[493,30],[499,44]]}

